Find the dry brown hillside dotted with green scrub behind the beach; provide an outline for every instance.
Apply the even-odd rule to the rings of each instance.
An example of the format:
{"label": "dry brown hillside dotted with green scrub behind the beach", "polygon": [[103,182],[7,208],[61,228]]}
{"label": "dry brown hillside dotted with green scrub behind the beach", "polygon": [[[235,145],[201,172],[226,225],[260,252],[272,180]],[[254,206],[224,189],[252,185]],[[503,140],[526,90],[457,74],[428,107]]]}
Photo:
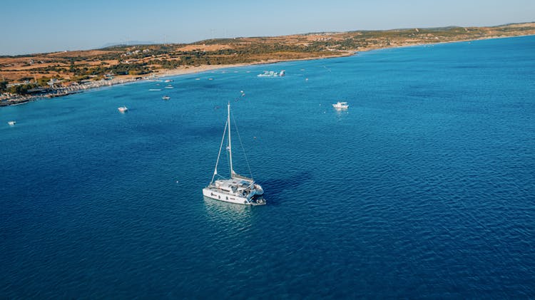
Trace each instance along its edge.
{"label": "dry brown hillside dotted with green scrub behind the beach", "polygon": [[[112,77],[141,78],[152,73],[199,66],[347,56],[376,48],[533,34],[535,23],[492,27],[452,26],[218,38],[190,44],[112,46],[89,51],[0,56],[0,91],[24,94],[37,86],[54,88]],[[56,80],[50,81],[51,78]],[[14,83],[25,85],[19,85],[16,90],[12,87]]]}

